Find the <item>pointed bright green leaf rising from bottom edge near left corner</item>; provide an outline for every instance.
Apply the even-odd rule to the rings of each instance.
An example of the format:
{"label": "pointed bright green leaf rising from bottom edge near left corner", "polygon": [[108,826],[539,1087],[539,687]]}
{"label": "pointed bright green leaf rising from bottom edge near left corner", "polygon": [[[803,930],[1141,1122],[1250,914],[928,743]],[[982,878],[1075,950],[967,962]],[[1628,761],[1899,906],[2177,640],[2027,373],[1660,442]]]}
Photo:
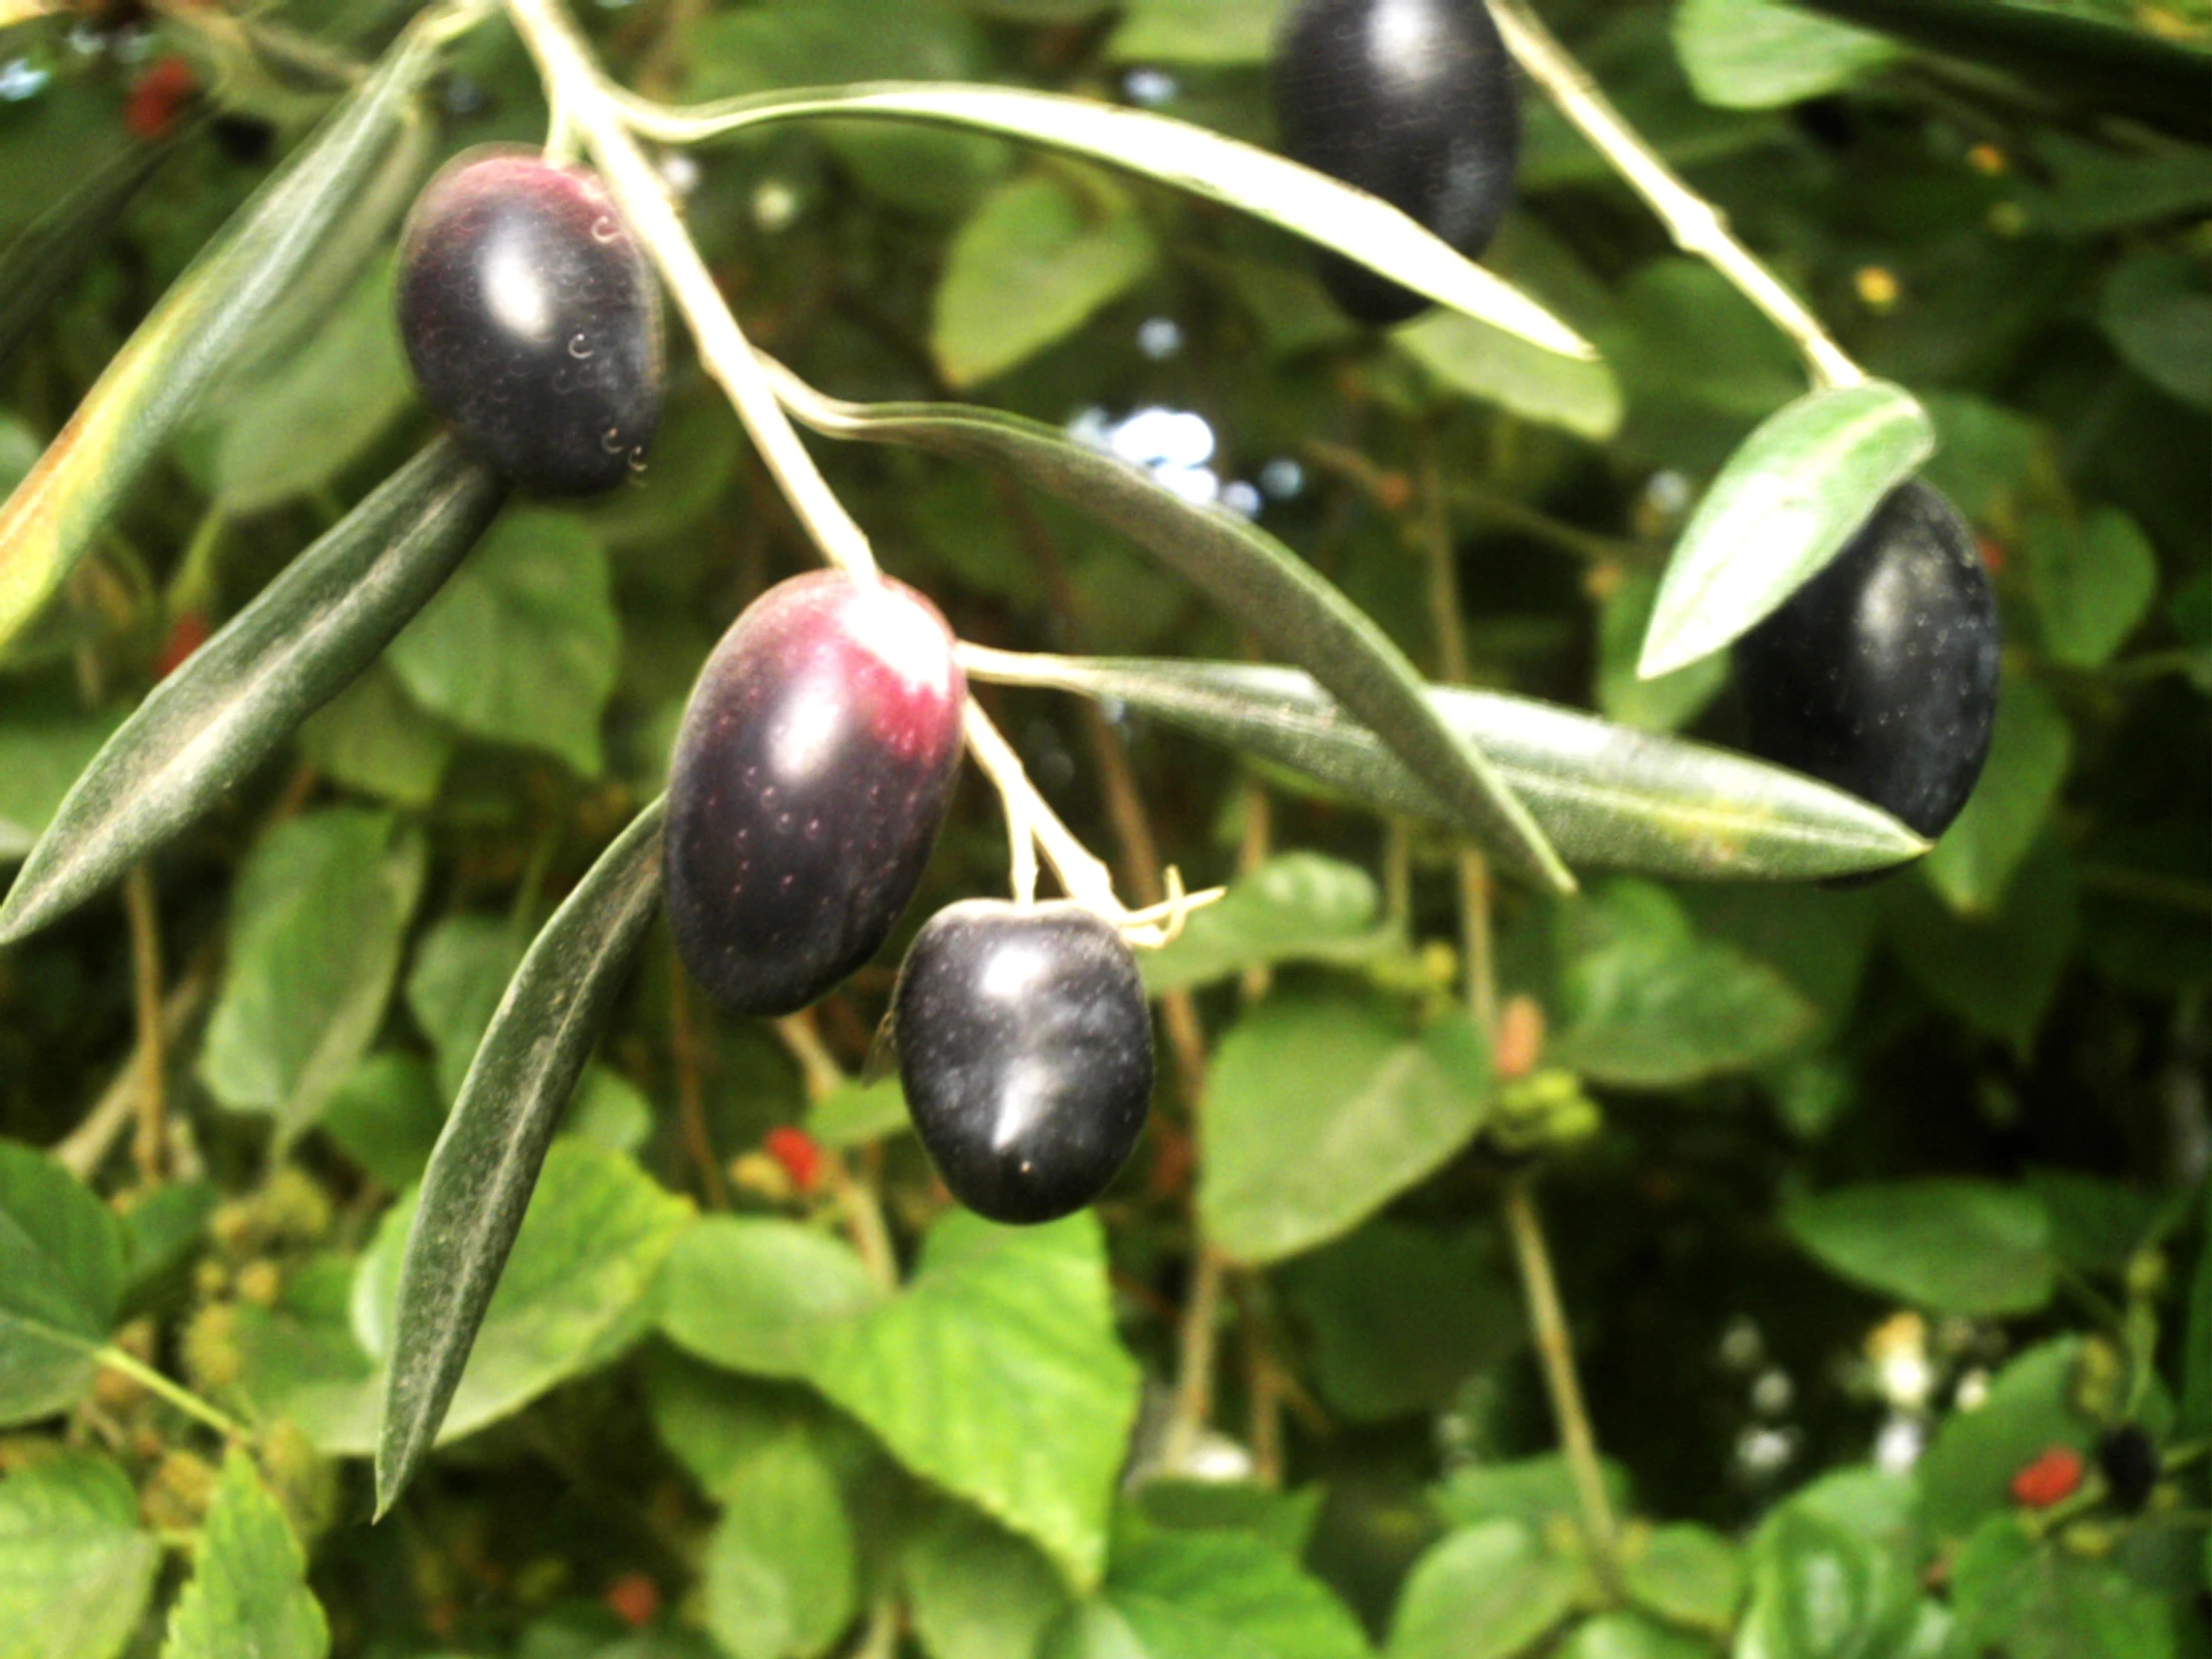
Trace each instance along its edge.
{"label": "pointed bright green leaf rising from bottom edge near left corner", "polygon": [[199,1533],[192,1582],[168,1615],[161,1659],[325,1659],[330,1626],[307,1553],[252,1453],[232,1447]]}

